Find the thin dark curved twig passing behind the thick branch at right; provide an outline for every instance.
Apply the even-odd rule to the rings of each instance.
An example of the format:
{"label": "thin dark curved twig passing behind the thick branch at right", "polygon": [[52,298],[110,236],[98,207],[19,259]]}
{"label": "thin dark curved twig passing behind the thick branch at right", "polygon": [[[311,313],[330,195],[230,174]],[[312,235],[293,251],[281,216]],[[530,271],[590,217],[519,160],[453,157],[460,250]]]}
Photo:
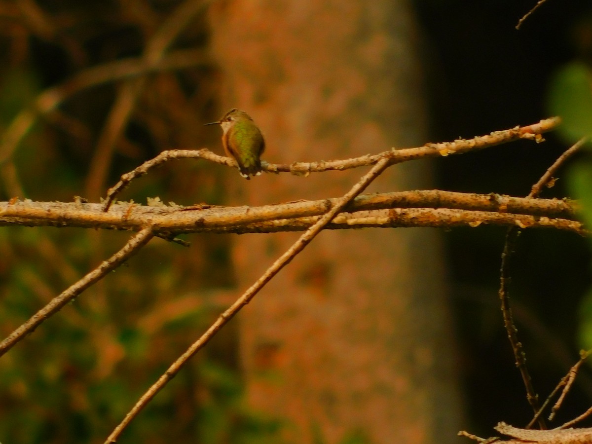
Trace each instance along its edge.
{"label": "thin dark curved twig passing behind the thick branch at right", "polygon": [[[545,174],[542,175],[539,181],[536,182],[532,189],[530,189],[528,197],[532,198],[537,196],[542,190],[543,186],[545,186],[545,184],[547,184],[551,180],[552,175],[562,165],[562,163],[564,163],[565,160],[568,159],[568,157],[570,157],[573,153],[580,149],[584,142],[585,139],[579,140],[577,143],[574,144],[574,146],[570,147],[561,156],[559,156],[558,159],[555,160],[553,165],[551,165],[546,170]],[[518,330],[516,329],[516,326],[514,324],[514,318],[510,307],[510,262],[519,235],[520,230],[517,227],[511,227],[506,234],[504,250],[503,253],[501,253],[499,296],[501,303],[501,313],[504,318],[504,327],[506,328],[508,339],[510,340],[510,345],[512,347],[512,351],[514,352],[514,361],[516,362],[516,366],[520,371],[520,375],[522,375],[522,381],[524,382],[526,388],[526,399],[532,407],[536,417],[540,410],[538,395],[536,394],[535,389],[532,385],[532,378],[530,378],[530,373],[526,366],[526,355],[522,349],[522,343],[518,339]],[[540,415],[538,416],[538,423],[541,429],[546,429],[545,420],[542,417],[540,417]]]}

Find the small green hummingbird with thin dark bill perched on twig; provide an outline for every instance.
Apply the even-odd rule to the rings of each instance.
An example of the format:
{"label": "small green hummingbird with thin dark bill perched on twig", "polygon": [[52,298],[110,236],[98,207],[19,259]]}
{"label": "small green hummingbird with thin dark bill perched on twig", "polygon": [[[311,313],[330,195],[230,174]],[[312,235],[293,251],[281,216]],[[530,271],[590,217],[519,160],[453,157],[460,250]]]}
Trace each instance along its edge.
{"label": "small green hummingbird with thin dark bill perched on twig", "polygon": [[261,130],[256,126],[249,114],[238,108],[232,108],[217,122],[222,127],[222,144],[226,155],[239,164],[240,175],[249,180],[250,175],[261,174],[259,157],[265,150],[265,140]]}

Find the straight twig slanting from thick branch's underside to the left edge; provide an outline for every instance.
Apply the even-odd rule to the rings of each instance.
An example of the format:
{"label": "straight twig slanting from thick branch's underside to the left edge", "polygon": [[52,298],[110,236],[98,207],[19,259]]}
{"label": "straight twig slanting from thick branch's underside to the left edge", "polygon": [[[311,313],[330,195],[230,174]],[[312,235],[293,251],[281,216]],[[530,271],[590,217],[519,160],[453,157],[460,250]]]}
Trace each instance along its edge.
{"label": "straight twig slanting from thick branch's underside to the left edge", "polygon": [[98,267],[96,267],[89,274],[84,276],[75,284],[71,285],[62,294],[54,297],[45,307],[37,311],[24,324],[18,327],[14,332],[8,335],[6,339],[0,342],[0,356],[8,352],[17,342],[23,339],[27,334],[33,332],[39,324],[44,320],[57,313],[64,305],[72,301],[75,297],[81,294],[86,288],[90,287],[95,282],[104,278],[109,272],[126,262],[131,256],[136,254],[138,250],[143,247],[154,234],[152,227],[146,227],[139,233],[131,237],[130,240],[123,246],[121,250],[115,253],[111,258],[105,260]]}

